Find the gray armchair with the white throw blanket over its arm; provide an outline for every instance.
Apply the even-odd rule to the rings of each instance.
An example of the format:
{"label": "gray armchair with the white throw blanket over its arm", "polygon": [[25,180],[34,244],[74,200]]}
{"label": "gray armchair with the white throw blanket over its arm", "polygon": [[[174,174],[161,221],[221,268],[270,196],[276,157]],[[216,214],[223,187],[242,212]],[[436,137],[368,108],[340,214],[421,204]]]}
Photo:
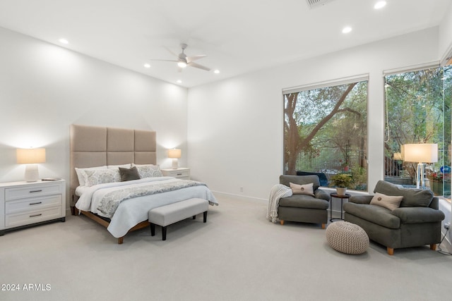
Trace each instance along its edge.
{"label": "gray armchair with the white throw blanket over its arm", "polygon": [[328,206],[330,195],[319,189],[318,176],[280,176],[280,184],[290,187],[290,183],[304,185],[314,183],[314,197],[311,195],[292,195],[281,197],[278,207],[278,219],[304,223],[321,223],[324,229],[328,222]]}

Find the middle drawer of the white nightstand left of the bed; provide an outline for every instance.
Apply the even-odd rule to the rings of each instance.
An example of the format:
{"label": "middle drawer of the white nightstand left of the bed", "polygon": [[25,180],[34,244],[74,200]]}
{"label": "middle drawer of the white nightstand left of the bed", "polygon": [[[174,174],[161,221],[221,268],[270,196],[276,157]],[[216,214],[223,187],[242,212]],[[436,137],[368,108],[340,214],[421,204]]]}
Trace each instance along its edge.
{"label": "middle drawer of the white nightstand left of the bed", "polygon": [[32,197],[6,202],[5,213],[18,214],[24,211],[36,211],[57,206],[61,207],[61,195],[53,195],[51,197]]}

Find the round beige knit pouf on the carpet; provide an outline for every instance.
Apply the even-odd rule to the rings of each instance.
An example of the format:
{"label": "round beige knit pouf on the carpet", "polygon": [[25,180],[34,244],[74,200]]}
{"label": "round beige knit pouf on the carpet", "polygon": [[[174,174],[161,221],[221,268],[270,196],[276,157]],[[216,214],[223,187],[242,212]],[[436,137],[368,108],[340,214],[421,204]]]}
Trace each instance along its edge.
{"label": "round beige knit pouf on the carpet", "polygon": [[326,241],[334,250],[345,254],[362,254],[369,247],[369,236],[364,229],[348,221],[328,225]]}

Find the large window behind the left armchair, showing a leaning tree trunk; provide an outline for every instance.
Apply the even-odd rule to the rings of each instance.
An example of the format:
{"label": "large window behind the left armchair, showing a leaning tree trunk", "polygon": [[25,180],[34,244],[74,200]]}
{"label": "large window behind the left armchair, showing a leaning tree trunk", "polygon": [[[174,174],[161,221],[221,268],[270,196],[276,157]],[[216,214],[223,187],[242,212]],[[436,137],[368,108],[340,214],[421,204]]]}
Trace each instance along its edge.
{"label": "large window behind the left armchair, showing a leaning tree trunk", "polygon": [[286,174],[348,173],[367,190],[367,77],[284,92]]}

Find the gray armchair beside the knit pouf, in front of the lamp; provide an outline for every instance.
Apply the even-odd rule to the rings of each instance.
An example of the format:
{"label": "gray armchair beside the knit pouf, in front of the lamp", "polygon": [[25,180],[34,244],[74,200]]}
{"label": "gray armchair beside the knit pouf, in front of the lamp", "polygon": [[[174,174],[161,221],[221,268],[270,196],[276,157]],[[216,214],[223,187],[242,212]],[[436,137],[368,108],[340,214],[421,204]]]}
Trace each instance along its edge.
{"label": "gray armchair beside the knit pouf, in front of the lamp", "polygon": [[372,195],[352,196],[344,204],[345,221],[361,226],[374,242],[394,249],[430,245],[435,250],[441,241],[439,199],[430,190],[402,188],[380,180],[374,189],[383,195],[403,196],[400,207],[386,209],[370,204]]}

